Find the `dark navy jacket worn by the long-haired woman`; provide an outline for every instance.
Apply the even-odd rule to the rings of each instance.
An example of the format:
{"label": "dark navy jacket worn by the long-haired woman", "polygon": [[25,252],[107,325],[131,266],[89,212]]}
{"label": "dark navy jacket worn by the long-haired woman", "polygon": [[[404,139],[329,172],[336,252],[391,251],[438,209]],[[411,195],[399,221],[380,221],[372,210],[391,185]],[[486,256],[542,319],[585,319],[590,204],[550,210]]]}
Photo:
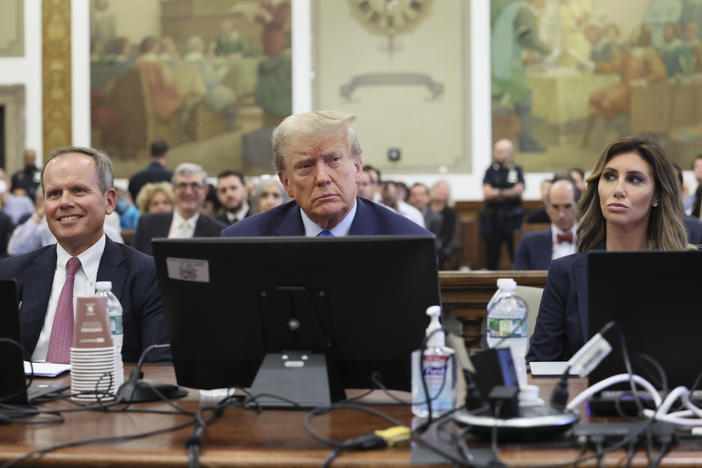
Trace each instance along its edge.
{"label": "dark navy jacket worn by the long-haired woman", "polygon": [[588,339],[587,252],[551,262],[527,361],[566,361]]}

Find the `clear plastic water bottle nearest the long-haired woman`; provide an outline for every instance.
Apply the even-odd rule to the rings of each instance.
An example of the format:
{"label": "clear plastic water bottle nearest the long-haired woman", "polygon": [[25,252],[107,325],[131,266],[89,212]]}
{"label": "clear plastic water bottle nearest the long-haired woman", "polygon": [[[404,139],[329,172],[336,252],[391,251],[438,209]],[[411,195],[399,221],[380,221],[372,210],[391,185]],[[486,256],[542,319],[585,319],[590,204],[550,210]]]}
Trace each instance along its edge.
{"label": "clear plastic water bottle nearest the long-haired woman", "polygon": [[519,386],[527,384],[527,314],[529,307],[515,294],[517,283],[511,278],[497,280],[497,293],[487,308],[487,343],[491,348],[509,346],[512,350]]}

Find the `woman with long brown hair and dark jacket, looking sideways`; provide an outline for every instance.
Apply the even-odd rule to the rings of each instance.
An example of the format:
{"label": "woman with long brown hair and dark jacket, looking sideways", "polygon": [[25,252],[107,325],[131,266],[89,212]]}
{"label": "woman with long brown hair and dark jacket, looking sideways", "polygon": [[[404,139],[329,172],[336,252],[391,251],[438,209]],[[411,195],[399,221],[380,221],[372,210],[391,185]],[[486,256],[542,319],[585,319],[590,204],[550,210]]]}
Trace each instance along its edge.
{"label": "woman with long brown hair and dark jacket, looking sideways", "polygon": [[587,180],[578,215],[578,253],[551,263],[529,361],[565,361],[585,344],[588,251],[688,245],[673,166],[656,143],[638,137],[607,145]]}

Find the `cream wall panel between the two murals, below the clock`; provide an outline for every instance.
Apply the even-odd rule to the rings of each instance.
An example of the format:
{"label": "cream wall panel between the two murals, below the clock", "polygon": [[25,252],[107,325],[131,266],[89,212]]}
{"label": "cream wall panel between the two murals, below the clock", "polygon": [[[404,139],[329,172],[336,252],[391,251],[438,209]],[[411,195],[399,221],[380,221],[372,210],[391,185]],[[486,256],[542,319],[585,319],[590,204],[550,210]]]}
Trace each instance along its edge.
{"label": "cream wall panel between the two murals, below the clock", "polygon": [[[390,50],[387,36],[352,17],[347,0],[313,2],[313,107],[356,114],[366,162],[386,172],[470,171],[468,10],[463,0],[433,2]],[[421,84],[371,84],[350,99],[340,92],[354,78],[389,74],[421,74],[444,90],[436,99]],[[394,147],[402,150],[397,164],[387,158]]]}

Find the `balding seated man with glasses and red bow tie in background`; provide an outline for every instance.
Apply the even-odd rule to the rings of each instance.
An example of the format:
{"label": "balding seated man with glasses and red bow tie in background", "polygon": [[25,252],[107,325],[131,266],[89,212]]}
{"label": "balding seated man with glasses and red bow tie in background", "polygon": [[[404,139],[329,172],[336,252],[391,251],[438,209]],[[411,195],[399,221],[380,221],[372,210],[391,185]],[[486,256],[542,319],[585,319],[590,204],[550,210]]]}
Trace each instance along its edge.
{"label": "balding seated man with glasses and red bow tie in background", "polygon": [[548,270],[551,260],[577,251],[575,236],[580,191],[569,178],[557,178],[546,193],[551,228],[528,232],[517,247],[513,270]]}

